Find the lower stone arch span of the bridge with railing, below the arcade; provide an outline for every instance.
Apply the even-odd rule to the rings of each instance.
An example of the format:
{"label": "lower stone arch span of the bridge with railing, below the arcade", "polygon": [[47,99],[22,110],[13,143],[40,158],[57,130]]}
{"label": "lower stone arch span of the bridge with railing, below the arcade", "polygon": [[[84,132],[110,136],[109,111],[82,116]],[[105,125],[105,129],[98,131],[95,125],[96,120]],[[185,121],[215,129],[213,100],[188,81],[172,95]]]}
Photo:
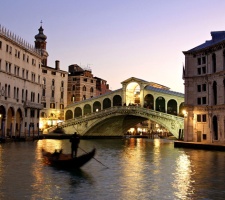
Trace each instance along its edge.
{"label": "lower stone arch span of the bridge with railing, below the arcade", "polygon": [[122,136],[144,120],[152,120],[164,126],[176,138],[184,129],[184,118],[137,106],[114,106],[67,120],[58,126],[66,133],[77,131],[85,136]]}

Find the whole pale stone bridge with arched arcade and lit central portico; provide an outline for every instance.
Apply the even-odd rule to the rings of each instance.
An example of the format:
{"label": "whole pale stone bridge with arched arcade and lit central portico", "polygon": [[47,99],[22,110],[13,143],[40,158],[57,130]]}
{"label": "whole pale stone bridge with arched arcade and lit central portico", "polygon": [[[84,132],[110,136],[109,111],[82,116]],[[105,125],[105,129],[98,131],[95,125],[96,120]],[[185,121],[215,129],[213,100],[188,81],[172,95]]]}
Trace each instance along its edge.
{"label": "whole pale stone bridge with arched arcade and lit central portico", "polygon": [[58,126],[68,134],[122,136],[150,120],[179,137],[184,129],[182,93],[134,77],[121,84],[121,89],[67,106],[65,121]]}

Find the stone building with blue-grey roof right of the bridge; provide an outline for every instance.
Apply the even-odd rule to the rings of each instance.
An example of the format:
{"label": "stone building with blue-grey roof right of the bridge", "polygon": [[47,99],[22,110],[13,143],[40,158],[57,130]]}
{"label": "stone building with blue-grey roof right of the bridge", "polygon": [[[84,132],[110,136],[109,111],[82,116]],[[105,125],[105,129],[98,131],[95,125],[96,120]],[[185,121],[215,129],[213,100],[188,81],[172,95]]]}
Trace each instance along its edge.
{"label": "stone building with blue-grey roof right of the bridge", "polygon": [[225,31],[184,51],[186,142],[225,141]]}

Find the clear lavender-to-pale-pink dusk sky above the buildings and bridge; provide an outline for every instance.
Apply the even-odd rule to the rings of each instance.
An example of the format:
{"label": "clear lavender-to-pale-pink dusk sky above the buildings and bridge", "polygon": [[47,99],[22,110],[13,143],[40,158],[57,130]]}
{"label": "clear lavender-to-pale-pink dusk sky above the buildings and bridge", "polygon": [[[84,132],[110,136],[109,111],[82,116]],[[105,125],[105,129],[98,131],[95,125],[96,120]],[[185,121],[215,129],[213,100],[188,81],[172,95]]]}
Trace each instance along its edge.
{"label": "clear lavender-to-pale-pink dusk sky above the buildings and bridge", "polygon": [[0,24],[34,44],[42,27],[48,66],[78,64],[111,90],[136,77],[184,93],[182,53],[225,30],[224,0],[1,0]]}

